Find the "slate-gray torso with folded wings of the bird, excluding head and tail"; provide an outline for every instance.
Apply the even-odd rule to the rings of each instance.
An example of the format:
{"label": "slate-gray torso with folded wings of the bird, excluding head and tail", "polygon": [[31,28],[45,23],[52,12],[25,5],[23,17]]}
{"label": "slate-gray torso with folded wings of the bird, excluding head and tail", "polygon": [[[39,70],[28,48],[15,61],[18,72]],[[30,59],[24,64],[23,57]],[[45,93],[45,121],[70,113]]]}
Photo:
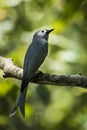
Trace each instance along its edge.
{"label": "slate-gray torso with folded wings of the bird, excluding head and tail", "polygon": [[40,67],[48,53],[48,43],[39,41],[37,44],[31,43],[24,60],[23,80],[28,80],[34,75]]}

